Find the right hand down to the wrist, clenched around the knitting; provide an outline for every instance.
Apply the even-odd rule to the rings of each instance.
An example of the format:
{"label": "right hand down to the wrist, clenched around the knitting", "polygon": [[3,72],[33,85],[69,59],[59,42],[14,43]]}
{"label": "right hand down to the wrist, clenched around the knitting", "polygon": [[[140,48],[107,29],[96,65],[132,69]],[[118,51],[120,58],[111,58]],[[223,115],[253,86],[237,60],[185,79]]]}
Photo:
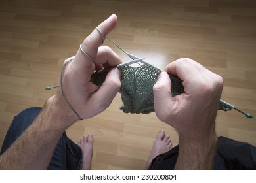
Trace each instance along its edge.
{"label": "right hand down to the wrist, clenched around the knitting", "polygon": [[190,141],[201,141],[209,133],[215,133],[223,78],[188,58],[170,63],[165,71],[181,78],[185,92],[171,97],[171,80],[167,73],[160,73],[154,85],[158,118]]}

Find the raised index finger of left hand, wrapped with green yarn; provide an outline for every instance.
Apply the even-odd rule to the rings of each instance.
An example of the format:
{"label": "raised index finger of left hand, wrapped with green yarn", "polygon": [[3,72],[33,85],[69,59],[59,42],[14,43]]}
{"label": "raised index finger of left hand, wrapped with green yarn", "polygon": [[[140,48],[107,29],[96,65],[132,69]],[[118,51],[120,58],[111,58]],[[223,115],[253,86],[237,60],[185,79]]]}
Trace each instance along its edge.
{"label": "raised index finger of left hand, wrapped with green yarn", "polygon": [[[98,25],[98,29],[102,31],[104,38],[106,35],[108,35],[108,33],[110,33],[110,31],[112,31],[112,29],[114,29],[116,22],[117,16],[113,14],[107,20]],[[87,53],[92,59],[95,59],[100,44],[102,44],[102,36],[97,29],[94,29],[93,32],[83,41],[81,46],[85,53]],[[79,64],[80,68],[91,69],[93,65],[93,62],[87,56],[85,56],[85,54],[80,49],[75,56],[75,61]]]}

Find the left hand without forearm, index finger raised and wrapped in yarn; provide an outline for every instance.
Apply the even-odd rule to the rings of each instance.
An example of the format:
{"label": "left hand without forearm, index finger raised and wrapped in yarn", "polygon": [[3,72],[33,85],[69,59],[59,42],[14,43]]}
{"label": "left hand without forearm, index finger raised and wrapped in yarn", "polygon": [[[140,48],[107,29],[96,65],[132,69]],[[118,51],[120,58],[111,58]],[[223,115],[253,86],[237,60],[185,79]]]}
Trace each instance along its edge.
{"label": "left hand without forearm, index finger raised and wrapped in yarn", "polygon": [[[117,16],[112,15],[98,25],[104,38],[114,29],[116,22]],[[102,44],[102,37],[98,30],[94,29],[81,45],[83,50],[93,58],[94,63],[81,50],[78,50],[74,61],[68,63],[64,68],[62,76],[62,90],[72,108],[83,119],[91,118],[105,110],[121,87],[121,71],[118,69],[112,69],[108,73],[100,88],[91,82],[91,74],[95,69],[113,67],[121,63],[121,59],[116,53],[107,46],[99,47],[100,44]],[[66,61],[70,59],[72,58],[66,59]],[[61,93],[58,93],[58,99],[63,100]],[[76,120],[78,120],[77,117]]]}

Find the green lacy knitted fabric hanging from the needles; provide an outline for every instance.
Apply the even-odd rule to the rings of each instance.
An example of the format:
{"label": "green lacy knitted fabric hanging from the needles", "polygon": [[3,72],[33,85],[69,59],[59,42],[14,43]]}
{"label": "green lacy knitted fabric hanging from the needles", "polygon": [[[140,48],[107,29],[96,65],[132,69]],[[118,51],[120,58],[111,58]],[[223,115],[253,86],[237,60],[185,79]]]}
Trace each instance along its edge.
{"label": "green lacy knitted fabric hanging from the needles", "polygon": [[[118,67],[118,66],[117,66]],[[148,114],[154,112],[153,86],[156,83],[160,69],[146,63],[140,67],[131,67],[122,65],[118,67],[121,70],[121,99],[123,106],[120,107],[125,113]],[[106,75],[112,68],[104,69],[93,73],[91,82],[101,86]],[[182,80],[174,75],[171,78],[171,93],[175,97],[184,93]],[[231,110],[220,101],[219,110]]]}

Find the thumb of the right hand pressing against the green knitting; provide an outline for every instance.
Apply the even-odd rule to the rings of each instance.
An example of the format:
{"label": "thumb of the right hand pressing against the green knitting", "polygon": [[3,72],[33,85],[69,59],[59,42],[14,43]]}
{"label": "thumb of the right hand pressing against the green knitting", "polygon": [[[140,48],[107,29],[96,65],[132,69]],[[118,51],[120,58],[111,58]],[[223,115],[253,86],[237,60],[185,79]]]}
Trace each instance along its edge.
{"label": "thumb of the right hand pressing against the green knitting", "polygon": [[154,108],[156,116],[163,121],[169,120],[173,98],[171,96],[171,79],[167,72],[161,72],[153,86]]}

